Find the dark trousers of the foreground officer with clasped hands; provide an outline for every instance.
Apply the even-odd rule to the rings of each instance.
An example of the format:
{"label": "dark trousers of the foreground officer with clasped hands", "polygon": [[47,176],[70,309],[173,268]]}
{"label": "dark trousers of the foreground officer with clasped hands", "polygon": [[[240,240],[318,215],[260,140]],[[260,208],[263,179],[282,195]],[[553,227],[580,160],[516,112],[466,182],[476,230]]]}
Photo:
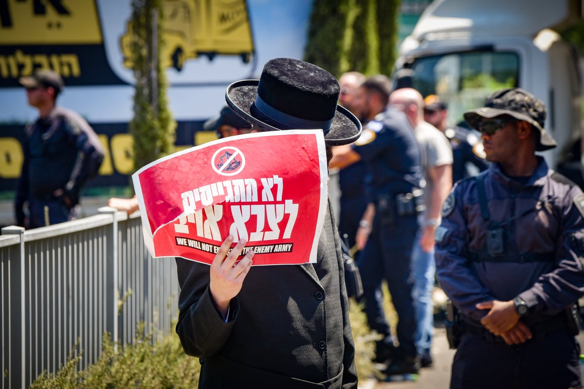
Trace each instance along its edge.
{"label": "dark trousers of the foreground officer with clasped hands", "polygon": [[567,327],[512,346],[464,334],[450,389],[582,389],[579,356]]}

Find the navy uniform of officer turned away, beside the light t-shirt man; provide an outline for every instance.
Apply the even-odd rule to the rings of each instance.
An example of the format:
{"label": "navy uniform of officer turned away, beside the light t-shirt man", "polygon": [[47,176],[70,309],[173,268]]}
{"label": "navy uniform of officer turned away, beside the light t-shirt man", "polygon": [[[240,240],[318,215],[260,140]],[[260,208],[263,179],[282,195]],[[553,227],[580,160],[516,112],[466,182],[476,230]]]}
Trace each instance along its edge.
{"label": "navy uniform of officer turned away, beside the light t-shirt man", "polygon": [[386,342],[391,341],[380,293],[385,279],[399,316],[399,348],[402,355],[415,357],[411,253],[418,222],[416,198],[411,194],[422,180],[419,146],[405,115],[390,108],[367,124],[352,148],[367,164],[367,193],[376,207],[373,228],[358,261],[367,320]]}

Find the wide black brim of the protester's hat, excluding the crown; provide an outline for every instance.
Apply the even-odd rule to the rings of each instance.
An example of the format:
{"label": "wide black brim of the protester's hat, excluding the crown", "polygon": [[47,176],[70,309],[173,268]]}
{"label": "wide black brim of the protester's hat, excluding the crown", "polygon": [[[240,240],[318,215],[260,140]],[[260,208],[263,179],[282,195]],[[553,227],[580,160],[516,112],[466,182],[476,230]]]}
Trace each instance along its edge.
{"label": "wide black brim of the protester's hat, excluding the crown", "polygon": [[[258,127],[279,131],[266,122],[254,117],[251,107],[258,95],[259,80],[241,80],[227,87],[225,100],[228,106],[245,121]],[[296,128],[295,128],[296,129]],[[301,128],[297,128],[301,129]],[[315,128],[304,128],[315,129]],[[331,146],[347,145],[353,143],[361,135],[361,123],[346,108],[337,104],[335,117],[332,120],[331,129],[325,135],[325,143]]]}

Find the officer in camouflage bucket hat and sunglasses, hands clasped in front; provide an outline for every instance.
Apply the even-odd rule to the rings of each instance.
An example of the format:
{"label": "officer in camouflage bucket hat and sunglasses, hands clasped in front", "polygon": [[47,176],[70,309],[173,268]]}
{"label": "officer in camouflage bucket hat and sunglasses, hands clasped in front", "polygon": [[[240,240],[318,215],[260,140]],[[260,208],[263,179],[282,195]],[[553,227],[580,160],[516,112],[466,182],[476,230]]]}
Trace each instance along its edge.
{"label": "officer in camouflage bucket hat and sunglasses, hands clasped in front", "polygon": [[437,274],[463,320],[450,388],[582,388],[571,306],[584,194],[536,156],[556,146],[545,111],[513,88],[464,114],[492,164],[454,187],[436,230]]}

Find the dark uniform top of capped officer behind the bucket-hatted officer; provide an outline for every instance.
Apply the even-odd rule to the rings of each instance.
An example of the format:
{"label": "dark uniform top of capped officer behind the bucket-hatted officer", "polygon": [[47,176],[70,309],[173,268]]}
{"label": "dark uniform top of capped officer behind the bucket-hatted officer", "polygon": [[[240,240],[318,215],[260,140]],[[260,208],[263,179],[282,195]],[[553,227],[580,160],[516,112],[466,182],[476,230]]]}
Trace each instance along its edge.
{"label": "dark uniform top of capped officer behind the bucket-hatted officer", "polygon": [[[444,135],[452,146],[452,182],[456,183],[465,177],[474,176],[489,167],[482,150],[481,134],[478,131],[461,126],[449,127]],[[468,166],[471,164],[471,166]],[[475,169],[475,171],[472,171]]]}

